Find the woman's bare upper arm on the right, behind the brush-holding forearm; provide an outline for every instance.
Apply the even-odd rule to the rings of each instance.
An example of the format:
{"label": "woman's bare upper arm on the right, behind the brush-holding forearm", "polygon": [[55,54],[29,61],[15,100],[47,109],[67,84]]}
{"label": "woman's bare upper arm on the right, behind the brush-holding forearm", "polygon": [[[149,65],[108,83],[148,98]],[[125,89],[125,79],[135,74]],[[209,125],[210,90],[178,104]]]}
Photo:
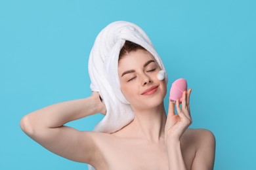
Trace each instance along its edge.
{"label": "woman's bare upper arm on the right, behind the brush-holding forearm", "polygon": [[200,129],[198,148],[191,169],[213,169],[215,160],[215,136],[211,131]]}

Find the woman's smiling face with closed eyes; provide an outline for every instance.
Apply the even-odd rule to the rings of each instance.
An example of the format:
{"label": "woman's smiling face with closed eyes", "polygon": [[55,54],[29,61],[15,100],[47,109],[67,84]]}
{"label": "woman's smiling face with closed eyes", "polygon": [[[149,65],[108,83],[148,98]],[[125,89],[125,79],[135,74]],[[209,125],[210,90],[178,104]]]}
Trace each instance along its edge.
{"label": "woman's smiling face with closed eyes", "polygon": [[160,70],[158,62],[146,50],[130,52],[119,60],[121,92],[133,108],[150,109],[163,102],[166,84],[157,78]]}

